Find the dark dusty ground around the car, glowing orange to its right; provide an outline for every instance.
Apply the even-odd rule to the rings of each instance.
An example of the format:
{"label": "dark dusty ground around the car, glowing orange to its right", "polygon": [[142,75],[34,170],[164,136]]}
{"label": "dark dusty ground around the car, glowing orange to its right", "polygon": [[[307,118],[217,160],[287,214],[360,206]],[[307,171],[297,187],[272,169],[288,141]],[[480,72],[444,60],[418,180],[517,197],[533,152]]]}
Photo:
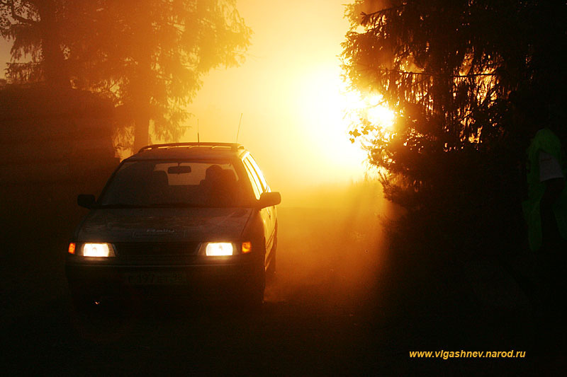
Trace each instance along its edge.
{"label": "dark dusty ground around the car, glowing orange to its right", "polygon": [[[345,195],[344,205],[279,209],[278,273],[256,315],[222,303],[152,300],[85,318],[72,308],[64,279],[67,234],[42,230],[39,219],[35,236],[3,252],[4,371],[561,374],[553,319],[534,323],[529,302],[500,269],[476,261],[442,279],[435,272],[412,278],[389,254],[382,224],[391,211],[371,199],[376,192]],[[461,349],[526,357],[409,356]]]}

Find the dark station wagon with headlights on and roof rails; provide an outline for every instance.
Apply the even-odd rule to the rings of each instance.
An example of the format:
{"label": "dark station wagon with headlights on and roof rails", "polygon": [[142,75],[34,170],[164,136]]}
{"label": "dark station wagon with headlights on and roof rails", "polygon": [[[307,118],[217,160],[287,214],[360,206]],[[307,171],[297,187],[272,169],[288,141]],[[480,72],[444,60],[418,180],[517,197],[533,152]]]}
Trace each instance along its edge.
{"label": "dark station wagon with headlights on and roof rails", "polygon": [[126,158],[69,242],[77,308],[132,294],[261,305],[276,268],[279,192],[240,144],[145,146]]}

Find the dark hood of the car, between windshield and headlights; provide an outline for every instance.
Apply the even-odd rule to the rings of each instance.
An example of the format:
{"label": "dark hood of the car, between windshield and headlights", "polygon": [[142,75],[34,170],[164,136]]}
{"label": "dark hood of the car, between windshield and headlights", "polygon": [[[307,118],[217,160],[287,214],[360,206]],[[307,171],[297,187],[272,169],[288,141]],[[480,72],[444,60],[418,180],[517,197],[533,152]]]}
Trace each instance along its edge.
{"label": "dark hood of the car, between windshield and headlights", "polygon": [[252,214],[247,208],[94,209],[77,240],[174,242],[240,238]]}

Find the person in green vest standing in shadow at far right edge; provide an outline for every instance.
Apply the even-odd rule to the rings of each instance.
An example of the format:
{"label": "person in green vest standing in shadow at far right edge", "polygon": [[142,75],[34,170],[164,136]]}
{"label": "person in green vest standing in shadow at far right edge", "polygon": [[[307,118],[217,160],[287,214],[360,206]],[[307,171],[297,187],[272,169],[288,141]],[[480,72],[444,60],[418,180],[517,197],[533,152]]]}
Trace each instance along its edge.
{"label": "person in green vest standing in shadow at far right edge", "polygon": [[[561,141],[540,129],[527,149],[528,199],[522,203],[529,248],[537,253],[541,299],[564,298],[567,275],[567,159]],[[553,304],[551,304],[553,305]]]}

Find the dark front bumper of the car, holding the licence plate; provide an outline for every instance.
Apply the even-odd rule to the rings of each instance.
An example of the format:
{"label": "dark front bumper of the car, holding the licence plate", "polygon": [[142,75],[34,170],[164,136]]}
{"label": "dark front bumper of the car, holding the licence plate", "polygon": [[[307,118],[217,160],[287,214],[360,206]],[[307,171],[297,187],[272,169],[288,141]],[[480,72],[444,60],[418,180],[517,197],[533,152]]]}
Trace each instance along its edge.
{"label": "dark front bumper of the car, holding the licence plate", "polygon": [[75,296],[235,296],[264,289],[263,264],[252,255],[194,257],[169,264],[69,255],[65,272]]}

